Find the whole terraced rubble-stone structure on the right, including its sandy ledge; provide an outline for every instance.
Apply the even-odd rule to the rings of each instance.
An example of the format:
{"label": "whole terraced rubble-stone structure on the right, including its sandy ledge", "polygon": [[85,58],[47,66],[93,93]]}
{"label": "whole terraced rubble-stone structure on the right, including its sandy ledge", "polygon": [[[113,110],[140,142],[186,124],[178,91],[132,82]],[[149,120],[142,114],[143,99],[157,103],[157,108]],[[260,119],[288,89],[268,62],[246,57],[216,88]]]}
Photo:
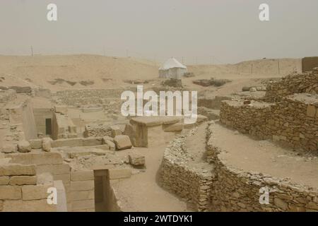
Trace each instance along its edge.
{"label": "whole terraced rubble-stone structure on the right, including its sandy ledge", "polygon": [[[199,157],[191,151],[197,152],[197,147],[187,145],[197,136],[195,131],[167,146],[160,169],[162,186],[199,211],[317,212],[317,85],[314,69],[269,83],[259,99],[236,96],[221,101],[220,120],[204,125],[206,141]],[[232,138],[237,144],[226,144]],[[235,149],[228,149],[231,146]],[[241,161],[249,163],[240,165]],[[257,161],[264,164],[249,166]],[[289,168],[290,177],[277,177]],[[273,169],[274,175],[268,174]],[[312,177],[304,183],[311,170]],[[301,179],[293,177],[298,173]],[[261,189],[268,189],[268,203],[260,202]]]}

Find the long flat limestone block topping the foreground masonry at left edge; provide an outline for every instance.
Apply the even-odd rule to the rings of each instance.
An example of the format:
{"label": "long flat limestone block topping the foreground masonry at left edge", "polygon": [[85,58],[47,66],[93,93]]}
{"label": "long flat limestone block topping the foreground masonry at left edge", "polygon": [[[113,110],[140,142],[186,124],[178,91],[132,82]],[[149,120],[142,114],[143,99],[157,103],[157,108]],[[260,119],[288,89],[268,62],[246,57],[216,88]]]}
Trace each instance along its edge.
{"label": "long flat limestone block topping the foreground masonry at left edge", "polygon": [[35,165],[0,165],[0,176],[35,175]]}

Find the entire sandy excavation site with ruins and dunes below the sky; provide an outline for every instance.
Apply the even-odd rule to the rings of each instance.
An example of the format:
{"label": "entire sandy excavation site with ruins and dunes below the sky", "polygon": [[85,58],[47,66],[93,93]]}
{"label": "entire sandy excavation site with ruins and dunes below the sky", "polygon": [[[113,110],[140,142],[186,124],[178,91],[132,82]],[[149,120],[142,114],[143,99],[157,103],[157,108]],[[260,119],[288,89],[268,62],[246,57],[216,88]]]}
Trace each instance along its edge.
{"label": "entire sandy excavation site with ruins and dunes below the sky", "polygon": [[[230,79],[221,85],[206,79],[219,66],[189,66],[179,78],[159,71],[152,79],[104,79],[120,88],[33,82],[42,65],[51,64],[49,76],[73,73],[61,59],[133,61],[2,57],[18,66],[1,73],[1,211],[318,210],[318,68],[302,72],[303,60],[285,59],[281,76],[277,60],[263,59],[254,61],[259,72],[251,78],[242,62],[223,66]],[[158,73],[138,62],[129,70],[136,64]],[[235,68],[242,72],[233,75]],[[137,84],[155,95],[196,90],[196,121],[186,123],[183,114],[123,116],[121,95],[129,90],[137,98]]]}

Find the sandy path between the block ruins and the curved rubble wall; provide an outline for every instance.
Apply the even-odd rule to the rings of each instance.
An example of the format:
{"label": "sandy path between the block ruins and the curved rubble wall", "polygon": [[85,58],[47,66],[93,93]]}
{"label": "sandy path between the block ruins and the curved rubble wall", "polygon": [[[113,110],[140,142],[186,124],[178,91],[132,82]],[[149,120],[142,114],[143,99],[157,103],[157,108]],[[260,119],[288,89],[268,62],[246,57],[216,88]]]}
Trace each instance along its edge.
{"label": "sandy path between the block ruins and the curved rubble wall", "polygon": [[157,173],[165,145],[156,148],[135,148],[146,156],[146,172],[133,175],[114,184],[124,211],[189,211],[187,204],[163,190]]}

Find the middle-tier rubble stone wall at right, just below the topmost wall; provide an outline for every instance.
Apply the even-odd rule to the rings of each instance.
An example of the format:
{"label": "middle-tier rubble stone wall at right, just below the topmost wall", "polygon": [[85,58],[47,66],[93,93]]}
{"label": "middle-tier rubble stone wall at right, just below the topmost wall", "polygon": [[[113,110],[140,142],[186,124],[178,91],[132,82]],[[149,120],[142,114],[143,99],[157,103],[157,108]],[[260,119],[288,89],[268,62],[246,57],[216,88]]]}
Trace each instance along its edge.
{"label": "middle-tier rubble stone wall at right, just below the topmost wall", "polygon": [[276,104],[225,101],[220,121],[242,133],[271,139],[296,149],[318,150],[318,95],[296,94]]}

